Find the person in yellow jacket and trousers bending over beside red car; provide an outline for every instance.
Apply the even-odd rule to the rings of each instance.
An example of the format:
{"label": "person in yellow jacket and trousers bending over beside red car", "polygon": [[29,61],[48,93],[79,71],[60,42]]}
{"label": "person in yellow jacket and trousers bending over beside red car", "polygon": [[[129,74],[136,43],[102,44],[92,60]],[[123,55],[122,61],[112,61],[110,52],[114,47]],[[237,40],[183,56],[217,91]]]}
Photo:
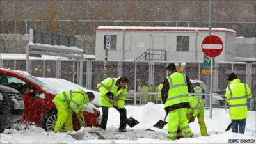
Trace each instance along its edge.
{"label": "person in yellow jacket and trousers bending over beside red car", "polygon": [[54,132],[62,132],[63,124],[65,124],[66,132],[73,130],[72,111],[77,114],[81,126],[86,127],[83,107],[84,104],[88,105],[94,97],[93,92],[84,92],[80,87],[77,90],[65,90],[58,93],[52,100],[58,111]]}

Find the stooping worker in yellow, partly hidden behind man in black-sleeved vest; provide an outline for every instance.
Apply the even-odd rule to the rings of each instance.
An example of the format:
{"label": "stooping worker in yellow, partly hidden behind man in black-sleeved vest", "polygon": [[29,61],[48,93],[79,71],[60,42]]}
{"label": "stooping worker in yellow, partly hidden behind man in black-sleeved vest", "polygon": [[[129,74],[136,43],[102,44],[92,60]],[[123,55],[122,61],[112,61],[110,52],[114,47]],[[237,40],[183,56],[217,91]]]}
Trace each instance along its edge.
{"label": "stooping worker in yellow, partly hidden behind man in black-sleeved vest", "polygon": [[[202,100],[199,100],[194,96],[189,96],[189,105],[190,107],[187,109],[186,113],[188,121],[194,122],[195,117],[197,117],[201,136],[209,136],[204,122],[204,103]],[[180,131],[177,133],[179,137],[182,137],[182,133]]]}

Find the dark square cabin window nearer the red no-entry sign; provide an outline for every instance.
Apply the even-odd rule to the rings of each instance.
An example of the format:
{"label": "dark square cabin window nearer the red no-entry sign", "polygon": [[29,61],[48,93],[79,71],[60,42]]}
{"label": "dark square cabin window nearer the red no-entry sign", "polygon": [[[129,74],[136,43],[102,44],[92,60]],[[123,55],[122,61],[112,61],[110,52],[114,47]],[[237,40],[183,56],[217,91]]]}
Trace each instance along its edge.
{"label": "dark square cabin window nearer the red no-entry sign", "polygon": [[177,36],[176,51],[189,51],[189,36]]}

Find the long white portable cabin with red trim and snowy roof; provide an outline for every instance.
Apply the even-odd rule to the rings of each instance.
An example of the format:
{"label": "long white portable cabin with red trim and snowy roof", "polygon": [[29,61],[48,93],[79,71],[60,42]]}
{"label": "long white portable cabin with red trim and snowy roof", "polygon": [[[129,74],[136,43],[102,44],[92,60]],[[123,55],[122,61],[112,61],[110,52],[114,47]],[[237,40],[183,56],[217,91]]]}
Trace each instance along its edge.
{"label": "long white portable cabin with red trim and snowy roof", "polygon": [[[209,28],[99,26],[96,29],[95,58],[104,60],[104,36],[111,35],[108,60],[203,61],[202,41]],[[234,61],[236,32],[211,28],[211,35],[223,41],[216,61]]]}

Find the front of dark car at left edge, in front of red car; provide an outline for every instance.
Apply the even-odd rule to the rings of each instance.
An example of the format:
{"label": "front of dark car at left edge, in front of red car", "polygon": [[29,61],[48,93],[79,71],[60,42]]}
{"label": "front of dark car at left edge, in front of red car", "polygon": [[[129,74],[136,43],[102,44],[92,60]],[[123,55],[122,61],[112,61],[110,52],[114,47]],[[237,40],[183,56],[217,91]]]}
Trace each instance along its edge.
{"label": "front of dark car at left edge, in front of red car", "polygon": [[[3,82],[1,79],[0,81]],[[14,88],[0,85],[0,133],[13,123],[19,122],[24,111],[24,102]]]}

